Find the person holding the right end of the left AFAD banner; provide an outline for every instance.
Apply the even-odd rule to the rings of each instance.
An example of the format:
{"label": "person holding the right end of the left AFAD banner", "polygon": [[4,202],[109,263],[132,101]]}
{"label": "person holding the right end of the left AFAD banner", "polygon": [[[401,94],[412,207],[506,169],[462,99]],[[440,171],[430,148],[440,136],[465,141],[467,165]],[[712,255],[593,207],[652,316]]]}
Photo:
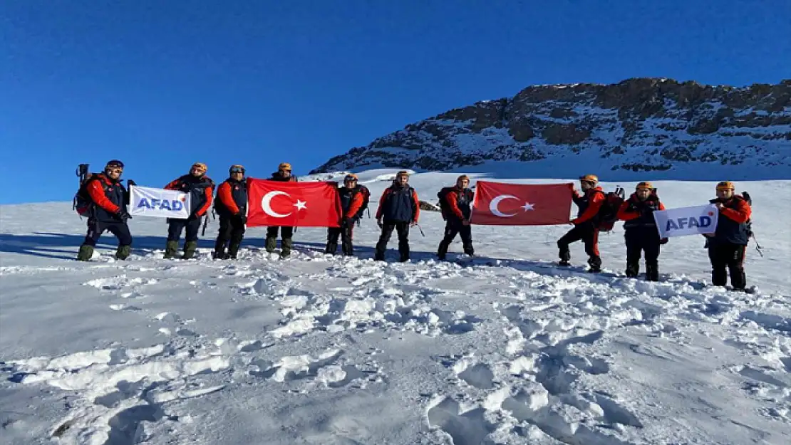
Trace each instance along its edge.
{"label": "person holding the right end of the left AFAD banner", "polygon": [[211,206],[214,194],[214,181],[206,176],[206,164],[196,162],[192,164],[187,175],[180,176],[172,180],[165,186],[165,190],[179,190],[182,193],[190,194],[190,216],[185,219],[168,218],[168,242],[165,245],[165,258],[176,257],[179,250],[179,239],[181,232],[187,228],[187,236],[184,239],[184,255],[182,258],[189,259],[195,256],[198,248],[198,232],[200,230],[200,220]]}

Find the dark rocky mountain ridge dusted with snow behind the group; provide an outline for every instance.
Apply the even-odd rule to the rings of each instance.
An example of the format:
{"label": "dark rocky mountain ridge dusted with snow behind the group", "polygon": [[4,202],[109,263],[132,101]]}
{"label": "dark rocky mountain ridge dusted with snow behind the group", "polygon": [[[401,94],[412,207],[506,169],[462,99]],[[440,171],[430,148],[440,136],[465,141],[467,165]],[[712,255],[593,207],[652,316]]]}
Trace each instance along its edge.
{"label": "dark rocky mountain ridge dusted with snow behind the group", "polygon": [[531,86],[510,99],[456,108],[333,157],[311,173],[551,160],[654,175],[684,164],[791,172],[789,141],[791,80],[736,88],[634,78]]}

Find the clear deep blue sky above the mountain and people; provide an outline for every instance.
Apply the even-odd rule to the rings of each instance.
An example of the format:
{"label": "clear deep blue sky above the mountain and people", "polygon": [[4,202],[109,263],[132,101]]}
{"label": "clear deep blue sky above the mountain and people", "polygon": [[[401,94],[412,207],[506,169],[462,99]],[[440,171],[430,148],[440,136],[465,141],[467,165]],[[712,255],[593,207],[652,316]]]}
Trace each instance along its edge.
{"label": "clear deep blue sky above the mountain and people", "polygon": [[76,164],[164,186],[195,161],[297,174],[528,85],[791,77],[789,0],[3,0],[0,203]]}

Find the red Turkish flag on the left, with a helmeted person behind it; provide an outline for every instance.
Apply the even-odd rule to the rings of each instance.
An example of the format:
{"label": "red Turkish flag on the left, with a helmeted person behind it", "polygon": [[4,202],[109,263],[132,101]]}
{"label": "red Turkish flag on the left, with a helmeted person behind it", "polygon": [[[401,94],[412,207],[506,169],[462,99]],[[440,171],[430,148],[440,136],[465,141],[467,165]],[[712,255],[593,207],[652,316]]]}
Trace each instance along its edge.
{"label": "red Turkish flag on the left, with a helmeted person behind it", "polygon": [[248,178],[248,226],[340,227],[338,183]]}

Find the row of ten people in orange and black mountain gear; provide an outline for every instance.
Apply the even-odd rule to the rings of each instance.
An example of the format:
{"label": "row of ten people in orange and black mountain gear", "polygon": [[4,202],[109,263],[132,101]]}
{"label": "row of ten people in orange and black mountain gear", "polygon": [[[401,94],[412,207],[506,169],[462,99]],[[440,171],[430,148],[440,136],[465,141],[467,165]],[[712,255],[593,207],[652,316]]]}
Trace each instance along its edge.
{"label": "row of ten people in orange and black mountain gear", "polygon": [[[191,195],[191,216],[187,219],[168,220],[168,239],[165,246],[165,258],[175,258],[179,239],[186,229],[184,253],[181,258],[193,258],[198,246],[198,234],[201,218],[209,212],[214,202],[214,210],[220,219],[220,228],[216,239],[213,257],[215,259],[237,258],[239,247],[244,238],[247,223],[248,193],[244,167],[233,165],[229,168],[229,178],[221,183],[214,198],[214,182],[206,176],[206,164],[195,163],[190,172],[165,186],[168,190],[180,190]],[[119,240],[116,258],[125,259],[130,255],[132,242],[131,232],[127,225],[130,218],[127,212],[128,194],[120,177],[123,163],[111,160],[105,165],[104,172],[88,179],[87,190],[92,209],[89,210],[88,234],[81,245],[78,260],[88,261],[93,256],[93,247],[105,231],[112,232]],[[282,163],[278,171],[271,175],[274,181],[296,181],[292,175],[291,165]],[[604,203],[604,190],[598,185],[596,175],[585,175],[580,178],[581,191],[573,191],[573,202],[577,205],[577,217],[570,221],[573,228],[558,239],[558,256],[560,266],[570,265],[571,243],[581,240],[585,244],[588,264],[591,272],[601,270],[602,261],[599,255],[598,237],[600,232],[600,208]],[[453,187],[446,187],[441,193],[441,211],[445,219],[445,233],[437,247],[437,257],[445,259],[448,248],[456,236],[460,236],[464,253],[475,255],[471,235],[471,208],[474,193],[470,179],[461,175]],[[327,229],[327,246],[325,252],[335,255],[338,239],[341,239],[343,255],[354,255],[353,228],[361,217],[364,202],[364,187],[358,185],[358,176],[350,173],[343,180],[339,189],[339,197],[343,209],[339,228]],[[751,206],[740,195],[735,194],[733,183],[717,184],[717,198],[710,202],[720,211],[717,230],[709,236],[708,249],[712,266],[712,284],[725,286],[728,271],[734,290],[744,290],[746,277],[744,273],[744,255],[749,239],[748,225],[751,218]],[[621,205],[617,218],[625,221],[626,237],[626,276],[637,277],[640,270],[640,259],[645,255],[645,276],[649,281],[659,280],[660,246],[667,239],[660,239],[653,212],[664,210],[664,205],[657,196],[651,183],[638,183],[634,193]],[[384,253],[392,233],[398,235],[398,251],[401,262],[410,259],[409,231],[418,224],[420,202],[418,194],[409,184],[408,172],[398,172],[390,187],[384,190],[379,200],[376,219],[381,233],[376,245],[374,259],[384,261]],[[292,227],[269,227],[265,248],[273,253],[277,247],[278,232],[281,236],[280,257],[290,255],[293,247]]]}

